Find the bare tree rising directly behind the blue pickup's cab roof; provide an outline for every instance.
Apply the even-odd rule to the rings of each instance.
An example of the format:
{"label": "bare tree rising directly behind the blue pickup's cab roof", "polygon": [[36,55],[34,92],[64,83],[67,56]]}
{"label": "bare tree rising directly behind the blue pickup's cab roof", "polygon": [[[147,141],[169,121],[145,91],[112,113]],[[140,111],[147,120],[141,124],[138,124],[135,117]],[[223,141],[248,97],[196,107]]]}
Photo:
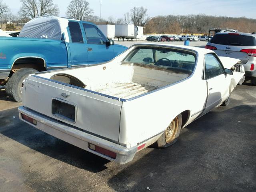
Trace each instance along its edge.
{"label": "bare tree rising directly behind the blue pickup's cab roof", "polygon": [[87,20],[90,18],[93,10],[90,9],[89,3],[85,0],[72,0],[68,5],[66,16],[78,20]]}

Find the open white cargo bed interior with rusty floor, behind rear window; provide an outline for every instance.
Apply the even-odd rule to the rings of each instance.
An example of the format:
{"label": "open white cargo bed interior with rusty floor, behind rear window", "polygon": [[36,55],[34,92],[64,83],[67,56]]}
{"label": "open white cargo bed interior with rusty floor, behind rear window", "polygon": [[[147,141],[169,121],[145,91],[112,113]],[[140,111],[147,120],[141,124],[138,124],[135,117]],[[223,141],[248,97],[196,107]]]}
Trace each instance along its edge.
{"label": "open white cargo bed interior with rusty floor, behind rear window", "polygon": [[[84,84],[82,88],[85,90],[126,100],[178,82],[190,76],[191,72],[150,64],[115,63],[67,69],[38,76],[54,80],[59,74],[70,75]],[[60,81],[60,78],[56,80]],[[62,82],[69,84],[66,80]]]}

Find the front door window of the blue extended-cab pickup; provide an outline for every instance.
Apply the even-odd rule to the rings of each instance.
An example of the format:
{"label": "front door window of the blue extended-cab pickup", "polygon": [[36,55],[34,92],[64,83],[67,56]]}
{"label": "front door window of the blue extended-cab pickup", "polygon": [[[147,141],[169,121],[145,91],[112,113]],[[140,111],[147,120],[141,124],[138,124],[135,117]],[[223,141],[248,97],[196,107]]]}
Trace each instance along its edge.
{"label": "front door window of the blue extended-cab pickup", "polygon": [[83,24],[88,44],[105,44],[107,42],[104,34],[94,25]]}

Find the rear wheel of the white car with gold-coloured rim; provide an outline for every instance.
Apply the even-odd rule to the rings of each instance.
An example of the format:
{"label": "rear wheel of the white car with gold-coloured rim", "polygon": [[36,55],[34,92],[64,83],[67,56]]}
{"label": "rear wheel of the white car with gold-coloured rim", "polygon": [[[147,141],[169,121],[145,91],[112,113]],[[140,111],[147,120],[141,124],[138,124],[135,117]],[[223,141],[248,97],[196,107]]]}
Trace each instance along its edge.
{"label": "rear wheel of the white car with gold-coloured rim", "polygon": [[179,114],[172,120],[164,133],[156,141],[157,148],[166,148],[174,144],[177,141],[178,136],[180,135],[181,124],[182,115]]}

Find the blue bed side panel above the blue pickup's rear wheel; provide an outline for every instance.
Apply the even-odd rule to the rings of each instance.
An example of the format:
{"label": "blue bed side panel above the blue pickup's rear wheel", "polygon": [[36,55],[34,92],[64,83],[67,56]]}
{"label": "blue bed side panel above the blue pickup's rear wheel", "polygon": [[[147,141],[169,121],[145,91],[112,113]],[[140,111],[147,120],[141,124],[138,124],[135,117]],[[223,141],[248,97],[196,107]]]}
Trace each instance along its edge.
{"label": "blue bed side panel above the blue pickup's rear wheel", "polygon": [[12,64],[22,57],[40,57],[46,65],[67,65],[66,45],[60,41],[34,38],[0,38],[0,50],[6,55],[0,60],[0,68],[12,68]]}

